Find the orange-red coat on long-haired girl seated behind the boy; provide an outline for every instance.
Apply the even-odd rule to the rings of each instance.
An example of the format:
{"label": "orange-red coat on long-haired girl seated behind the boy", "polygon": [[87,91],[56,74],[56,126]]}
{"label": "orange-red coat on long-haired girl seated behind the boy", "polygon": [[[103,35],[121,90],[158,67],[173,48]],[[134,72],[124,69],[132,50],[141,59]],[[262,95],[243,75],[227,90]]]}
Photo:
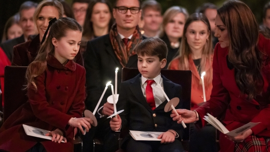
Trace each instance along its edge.
{"label": "orange-red coat on long-haired girl seated behind the boy", "polygon": [[[205,92],[206,92],[206,100],[210,99],[211,91],[212,91],[212,83],[208,84],[208,80],[210,79],[209,76],[213,73],[213,68],[212,68],[212,61],[213,61],[213,56],[211,56],[211,60],[207,60],[206,62],[206,75],[204,77],[204,82],[205,82]],[[168,69],[172,70],[179,70],[179,60],[173,59],[169,66]],[[198,104],[204,102],[204,95],[202,93],[202,84],[200,83],[201,78],[200,74],[191,58],[191,56],[188,59],[188,65],[189,65],[189,70],[192,72],[192,81],[191,81],[191,110],[194,110],[195,108],[198,108]]]}

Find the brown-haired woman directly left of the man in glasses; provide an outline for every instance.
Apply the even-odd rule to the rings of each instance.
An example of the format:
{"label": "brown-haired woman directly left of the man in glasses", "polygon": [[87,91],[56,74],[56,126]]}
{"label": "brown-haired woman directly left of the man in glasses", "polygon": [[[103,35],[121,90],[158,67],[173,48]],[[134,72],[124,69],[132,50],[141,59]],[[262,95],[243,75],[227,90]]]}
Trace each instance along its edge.
{"label": "brown-haired woman directly left of the man in glasses", "polygon": [[81,52],[86,49],[87,41],[106,35],[113,25],[113,7],[107,0],[93,0],[89,3],[82,32]]}

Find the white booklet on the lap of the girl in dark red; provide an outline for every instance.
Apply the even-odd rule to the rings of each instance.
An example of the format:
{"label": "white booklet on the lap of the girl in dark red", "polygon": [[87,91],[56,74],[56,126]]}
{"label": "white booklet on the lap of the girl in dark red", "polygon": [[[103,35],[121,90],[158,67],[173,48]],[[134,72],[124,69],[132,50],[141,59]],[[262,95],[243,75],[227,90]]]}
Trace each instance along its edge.
{"label": "white booklet on the lap of the girl in dark red", "polygon": [[[52,140],[52,136],[45,136],[47,133],[50,133],[50,131],[35,128],[34,126],[30,126],[26,124],[22,124],[22,126],[24,127],[25,132],[28,136]],[[64,142],[64,141],[62,140],[61,142]]]}

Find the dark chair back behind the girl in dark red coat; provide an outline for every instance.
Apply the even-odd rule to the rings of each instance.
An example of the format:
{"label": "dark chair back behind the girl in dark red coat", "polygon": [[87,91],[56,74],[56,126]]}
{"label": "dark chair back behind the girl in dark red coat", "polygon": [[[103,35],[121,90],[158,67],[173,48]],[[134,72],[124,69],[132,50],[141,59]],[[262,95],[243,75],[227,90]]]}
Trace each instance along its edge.
{"label": "dark chair back behind the girl in dark red coat", "polygon": [[26,85],[27,66],[6,66],[5,67],[5,94],[4,94],[4,118],[7,118],[22,104],[26,103],[28,98],[26,96],[27,90],[24,89]]}

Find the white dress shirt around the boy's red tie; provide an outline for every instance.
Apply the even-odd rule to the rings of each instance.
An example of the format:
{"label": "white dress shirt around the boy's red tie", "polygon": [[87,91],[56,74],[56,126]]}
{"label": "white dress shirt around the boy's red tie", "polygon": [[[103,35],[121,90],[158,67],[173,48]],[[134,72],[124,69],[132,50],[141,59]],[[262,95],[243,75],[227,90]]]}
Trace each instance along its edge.
{"label": "white dress shirt around the boy's red tie", "polygon": [[155,100],[155,108],[159,107],[165,100],[166,97],[164,96],[162,90],[160,89],[160,87],[158,86],[157,83],[159,83],[163,88],[163,79],[161,78],[161,74],[159,74],[157,77],[155,77],[154,79],[148,79],[148,78],[144,78],[143,75],[141,77],[141,88],[144,94],[144,97],[146,98],[146,93],[145,93],[145,88],[147,86],[147,80],[154,80],[155,82],[151,85],[152,89],[153,89],[153,95],[154,95],[154,100]]}

